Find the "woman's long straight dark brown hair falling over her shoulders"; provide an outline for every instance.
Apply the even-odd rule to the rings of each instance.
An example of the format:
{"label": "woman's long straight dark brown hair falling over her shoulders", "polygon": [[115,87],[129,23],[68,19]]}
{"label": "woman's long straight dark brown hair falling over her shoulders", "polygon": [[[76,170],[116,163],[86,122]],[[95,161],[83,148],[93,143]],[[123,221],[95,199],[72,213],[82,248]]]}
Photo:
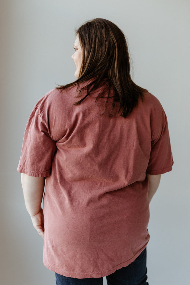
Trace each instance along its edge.
{"label": "woman's long straight dark brown hair falling over her shoulders", "polygon": [[[130,58],[125,36],[114,23],[97,18],[84,23],[76,35],[83,51],[83,59],[79,72],[79,78],[66,85],[58,85],[56,89],[64,90],[68,87],[78,85],[81,87],[78,97],[85,94],[75,105],[80,104],[104,80],[102,91],[97,95],[105,97],[105,111],[108,106],[109,98],[112,97],[112,109],[110,117],[115,110],[115,102],[119,103],[119,111],[122,117],[127,117],[134,107],[138,105],[138,100],[143,100],[143,92],[146,89],[136,85],[130,76]],[[113,89],[113,96],[110,91]],[[82,92],[82,91],[85,91]]]}

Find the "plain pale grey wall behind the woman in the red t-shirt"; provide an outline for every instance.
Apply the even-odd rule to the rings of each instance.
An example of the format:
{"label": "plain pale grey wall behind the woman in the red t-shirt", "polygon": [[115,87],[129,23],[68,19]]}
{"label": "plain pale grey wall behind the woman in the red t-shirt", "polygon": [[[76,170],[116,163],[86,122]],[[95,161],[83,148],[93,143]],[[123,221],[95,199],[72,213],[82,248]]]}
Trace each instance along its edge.
{"label": "plain pale grey wall behind the woman in the red t-shirt", "polygon": [[160,100],[168,118],[174,165],[150,204],[148,282],[189,284],[189,1],[1,0],[0,11],[0,283],[55,284],[25,209],[17,165],[35,103],[56,84],[75,80],[74,29],[100,17],[126,34],[132,78]]}

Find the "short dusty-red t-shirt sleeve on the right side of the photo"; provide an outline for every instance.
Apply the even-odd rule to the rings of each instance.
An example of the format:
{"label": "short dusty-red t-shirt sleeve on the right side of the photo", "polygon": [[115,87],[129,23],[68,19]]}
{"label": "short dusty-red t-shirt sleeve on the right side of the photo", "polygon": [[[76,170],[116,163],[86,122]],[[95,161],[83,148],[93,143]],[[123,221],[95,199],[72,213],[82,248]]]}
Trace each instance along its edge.
{"label": "short dusty-red t-shirt sleeve on the right side of the photo", "polygon": [[146,173],[156,175],[171,171],[173,165],[167,117],[161,104],[152,121],[152,144]]}

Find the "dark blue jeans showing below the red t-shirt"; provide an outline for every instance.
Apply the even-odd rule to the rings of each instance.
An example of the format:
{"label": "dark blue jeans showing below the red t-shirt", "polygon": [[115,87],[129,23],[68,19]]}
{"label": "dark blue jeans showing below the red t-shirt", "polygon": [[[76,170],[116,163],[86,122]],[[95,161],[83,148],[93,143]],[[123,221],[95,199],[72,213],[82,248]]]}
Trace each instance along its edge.
{"label": "dark blue jeans showing below the red t-shirt", "polygon": [[[128,266],[116,270],[106,276],[108,285],[148,285],[146,269],[146,248]],[[103,277],[100,278],[71,278],[56,273],[57,285],[103,285]]]}

